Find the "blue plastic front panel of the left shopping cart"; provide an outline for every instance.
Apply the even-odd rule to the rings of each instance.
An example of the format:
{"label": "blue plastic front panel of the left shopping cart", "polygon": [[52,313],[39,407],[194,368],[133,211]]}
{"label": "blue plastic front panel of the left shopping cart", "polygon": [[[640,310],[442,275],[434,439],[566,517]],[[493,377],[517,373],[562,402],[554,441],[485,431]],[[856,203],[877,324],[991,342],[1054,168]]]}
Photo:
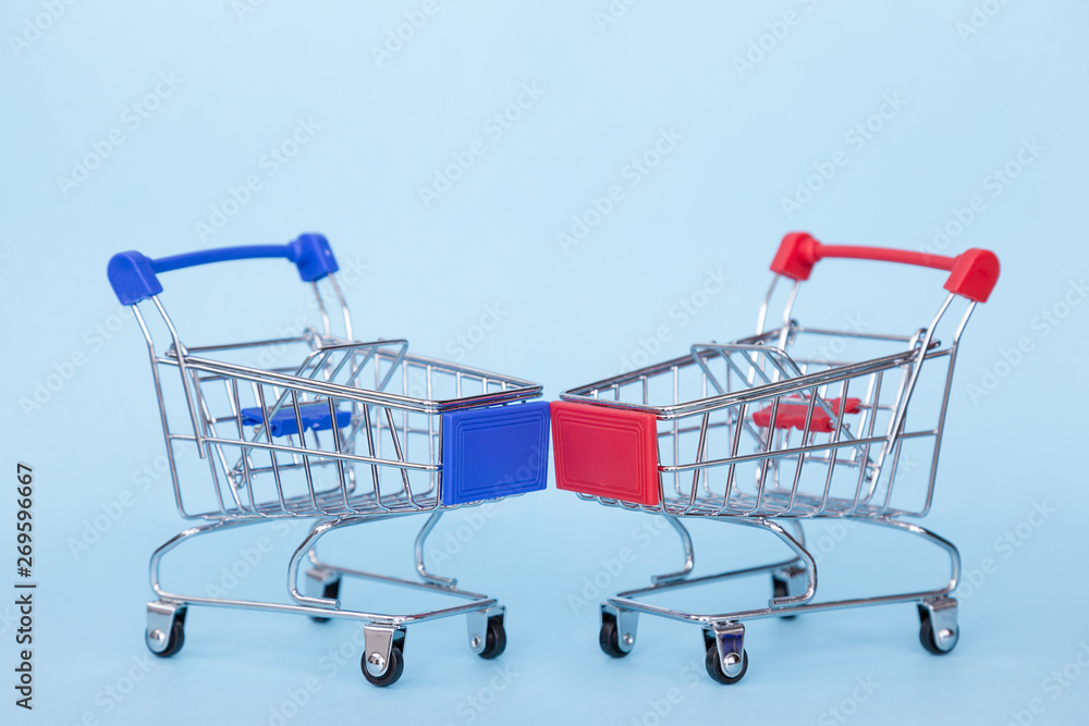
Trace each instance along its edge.
{"label": "blue plastic front panel of the left shopping cart", "polygon": [[442,503],[466,504],[544,489],[548,402],[442,415]]}

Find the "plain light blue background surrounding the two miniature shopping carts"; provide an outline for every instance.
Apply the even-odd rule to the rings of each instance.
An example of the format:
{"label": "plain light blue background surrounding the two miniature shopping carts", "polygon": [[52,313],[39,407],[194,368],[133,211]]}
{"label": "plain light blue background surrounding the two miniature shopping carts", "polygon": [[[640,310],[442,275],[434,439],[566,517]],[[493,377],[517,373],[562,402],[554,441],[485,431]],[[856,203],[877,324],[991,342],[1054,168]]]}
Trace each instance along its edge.
{"label": "plain light blue background surrounding the two miniature shopping carts", "polygon": [[[977,2],[998,12],[986,24],[977,16],[982,27],[963,36],[957,24],[974,13],[967,0],[641,0],[603,30],[596,13],[608,12],[607,0],[437,2],[381,66],[370,49],[420,2],[267,0],[241,16],[230,0],[79,2],[19,48],[11,37],[48,3],[4,4],[0,441],[5,467],[35,467],[40,590],[36,709],[11,704],[15,647],[0,623],[0,670],[9,674],[0,721],[72,724],[89,713],[103,724],[267,724],[269,709],[309,677],[320,690],[289,723],[653,724],[653,702],[671,689],[680,700],[662,723],[837,723],[829,709],[852,698],[856,679],[878,687],[851,723],[1003,724],[1037,698],[1044,711],[1035,723],[1084,721],[1089,674],[1057,693],[1042,681],[1089,642],[1079,564],[1089,306],[1070,286],[1089,267],[1089,9]],[[774,40],[768,24],[783,35],[774,24],[787,11],[794,25]],[[762,37],[771,49],[739,74],[735,59]],[[155,90],[160,73],[180,85],[132,127],[125,110]],[[523,84],[543,95],[494,138],[486,121]],[[905,104],[872,139],[857,148],[846,138],[896,94]],[[262,156],[298,119],[320,128],[272,175]],[[63,194],[58,177],[113,130],[123,143]],[[662,130],[681,140],[632,187],[625,167]],[[418,188],[477,139],[485,153],[425,208]],[[992,196],[989,175],[1032,139],[1043,150]],[[836,150],[847,164],[788,219],[781,198]],[[261,188],[201,238],[196,223],[252,174]],[[623,199],[564,254],[558,233],[614,184]],[[146,654],[147,555],[182,528],[167,479],[139,473],[161,465],[161,438],[139,332],[131,321],[109,330],[121,322],[105,275],[114,251],[161,256],[320,231],[355,270],[347,296],[362,337],[404,336],[417,352],[449,357],[456,336],[498,306],[501,321],[465,362],[541,381],[555,397],[616,372],[660,327],[671,340],[654,358],[748,333],[784,232],[919,249],[977,195],[982,211],[944,251],[994,249],[1003,276],[965,341],[927,524],[960,545],[966,569],[986,557],[998,569],[963,599],[951,656],[919,648],[914,607],[902,605],[755,624],[751,667],[732,688],[703,674],[696,628],[663,620],[643,618],[636,652],[611,661],[596,642],[596,606],[573,606],[570,596],[582,596],[586,578],[622,546],[635,549],[636,562],[610,590],[675,565],[676,544],[670,533],[634,536],[654,524],[649,517],[549,490],[501,504],[437,566],[509,606],[500,661],[472,656],[460,620],[420,626],[408,633],[403,679],[379,690],[359,675],[357,654],[344,667],[322,661],[351,638],[351,625],[194,608],[181,655],[154,662],[123,701],[106,696]],[[687,321],[671,317],[708,269],[729,275],[725,288]],[[282,282],[283,293],[240,290],[250,274]],[[821,274],[823,292],[799,307],[804,321],[839,325],[862,312],[874,330],[910,332],[939,299],[939,273],[843,263]],[[308,310],[294,273],[273,262],[179,273],[167,286],[164,302],[196,343],[274,334]],[[1082,304],[1064,309],[1067,295]],[[1041,322],[1054,306],[1066,317]],[[1003,367],[1004,352],[1025,341],[1018,364]],[[74,354],[83,365],[71,380],[24,413],[20,401]],[[996,365],[1005,376],[993,391],[970,395],[967,386]],[[14,558],[5,491],[3,582]],[[70,540],[125,491],[134,504],[74,556]],[[1057,510],[1023,546],[1001,549],[996,538],[1025,531],[1040,502]],[[470,524],[450,519],[438,546]],[[334,549],[408,573],[417,521],[348,532]],[[773,555],[772,543],[736,528],[695,529],[703,571]],[[301,532],[266,532],[270,567],[238,592],[282,590]],[[200,589],[257,536],[183,551],[174,582]],[[941,577],[929,553],[854,530],[822,564],[831,594]],[[766,590],[760,580],[692,602],[725,608],[762,602]],[[404,602],[396,592],[382,601]],[[509,668],[510,682],[493,693],[489,682],[505,682],[495,668]],[[476,711],[469,698],[490,703]]]}

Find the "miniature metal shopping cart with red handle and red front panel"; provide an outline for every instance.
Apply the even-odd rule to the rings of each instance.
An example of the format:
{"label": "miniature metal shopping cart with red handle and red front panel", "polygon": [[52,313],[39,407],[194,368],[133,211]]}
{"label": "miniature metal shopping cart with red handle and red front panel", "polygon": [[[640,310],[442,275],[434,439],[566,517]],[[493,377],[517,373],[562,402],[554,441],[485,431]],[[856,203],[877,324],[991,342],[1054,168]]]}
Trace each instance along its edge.
{"label": "miniature metal shopping cart with red handle and red front panel", "polygon": [[[910,335],[806,328],[791,317],[800,282],[818,260],[830,257],[946,270],[949,295],[930,324]],[[663,515],[684,546],[678,571],[605,600],[601,649],[614,657],[627,655],[639,613],[696,624],[703,631],[708,674],[732,684],[748,668],[746,620],[914,602],[922,645],[949,653],[958,638],[957,603],[950,593],[959,576],[959,554],[951,542],[904,518],[922,517],[930,509],[960,335],[976,304],[990,295],[999,260],[981,249],[949,258],[827,246],[793,233],[784,237],[771,269],[776,274],[760,307],[756,335],[695,345],[690,355],[574,389],[552,404],[558,488],[605,506]],[[794,285],[781,325],[768,330],[768,309],[781,278]],[[958,298],[966,303],[956,303]],[[943,345],[935,331],[954,304],[965,309],[952,325],[952,342]],[[945,327],[955,316],[949,318]],[[682,524],[688,517],[769,530],[793,557],[689,577],[694,553]],[[950,557],[949,582],[926,592],[817,601],[817,564],[802,521],[830,517],[938,545]],[[767,607],[705,615],[641,600],[769,574],[773,596]]]}

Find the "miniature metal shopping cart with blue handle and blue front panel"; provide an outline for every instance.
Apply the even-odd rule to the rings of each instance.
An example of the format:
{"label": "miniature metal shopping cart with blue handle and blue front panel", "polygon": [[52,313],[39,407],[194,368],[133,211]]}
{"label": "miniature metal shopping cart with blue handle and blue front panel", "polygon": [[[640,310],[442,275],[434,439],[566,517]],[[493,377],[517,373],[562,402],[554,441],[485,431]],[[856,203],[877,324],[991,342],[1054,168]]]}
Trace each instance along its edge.
{"label": "miniature metal shopping cart with blue handle and blue front panel", "polygon": [[[289,335],[252,343],[185,346],[160,300],[157,275],[266,257],[294,262],[303,281],[313,284],[321,329],[299,327]],[[530,401],[541,389],[409,355],[405,341],[354,342],[337,270],[329,243],[317,234],[304,234],[287,245],[154,260],[130,251],[110,260],[110,283],[121,303],[132,306],[147,339],[178,510],[185,519],[200,521],[151,555],[151,588],[158,600],[148,604],[146,637],[156,655],[171,656],[182,649],[189,605],[360,622],[363,674],[377,686],[401,677],[405,628],[414,623],[466,615],[474,652],[492,659],[505,648],[504,607],[429,573],[424,545],[448,509],[544,489],[548,404]],[[286,282],[272,272],[242,287],[255,308],[276,298]],[[343,318],[342,337],[334,336],[331,325],[330,311],[337,308]],[[415,542],[418,579],[318,558],[318,540],[333,530],[425,513],[430,516]],[[162,557],[183,542],[246,525],[302,518],[313,526],[289,562],[286,603],[174,594],[160,585]],[[309,565],[301,590],[304,559]],[[344,576],[465,602],[407,615],[348,610],[340,600]]]}

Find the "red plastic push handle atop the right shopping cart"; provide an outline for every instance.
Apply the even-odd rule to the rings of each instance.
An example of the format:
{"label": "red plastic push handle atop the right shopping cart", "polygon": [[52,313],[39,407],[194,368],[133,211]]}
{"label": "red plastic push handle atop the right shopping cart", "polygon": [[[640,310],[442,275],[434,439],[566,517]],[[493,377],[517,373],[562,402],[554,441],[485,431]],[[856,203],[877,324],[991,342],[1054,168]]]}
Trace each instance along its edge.
{"label": "red plastic push handle atop the right shopping cart", "polygon": [[771,270],[792,280],[808,280],[817,260],[827,257],[900,262],[946,270],[950,278],[945,281],[945,290],[977,303],[986,303],[999,281],[999,258],[987,249],[972,248],[956,257],[944,257],[886,247],[822,245],[808,232],[792,232],[783,237],[775,259],[771,261]]}

